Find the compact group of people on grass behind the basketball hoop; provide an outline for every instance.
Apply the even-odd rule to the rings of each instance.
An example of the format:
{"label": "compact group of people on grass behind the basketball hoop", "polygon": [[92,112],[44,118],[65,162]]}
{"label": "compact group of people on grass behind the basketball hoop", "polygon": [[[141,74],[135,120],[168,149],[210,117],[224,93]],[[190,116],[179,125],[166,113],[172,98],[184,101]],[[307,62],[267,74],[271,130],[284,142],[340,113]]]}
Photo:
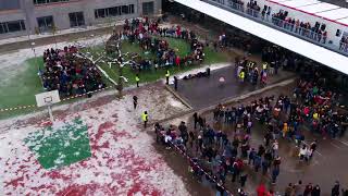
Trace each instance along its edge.
{"label": "compact group of people on grass behind the basketball hoop", "polygon": [[44,52],[44,70],[40,71],[44,88],[59,90],[63,97],[85,94],[103,88],[100,72],[87,59],[77,57],[74,46],[64,49],[47,49]]}

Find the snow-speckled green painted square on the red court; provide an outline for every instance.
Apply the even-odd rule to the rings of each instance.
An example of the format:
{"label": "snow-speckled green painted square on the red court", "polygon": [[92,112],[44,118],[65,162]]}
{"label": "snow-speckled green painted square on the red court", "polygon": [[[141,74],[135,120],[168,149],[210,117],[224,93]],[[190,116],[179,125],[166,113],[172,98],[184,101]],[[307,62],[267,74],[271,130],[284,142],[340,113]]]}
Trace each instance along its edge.
{"label": "snow-speckled green painted square on the red court", "polygon": [[69,166],[91,156],[88,127],[80,119],[33,132],[24,142],[45,169]]}

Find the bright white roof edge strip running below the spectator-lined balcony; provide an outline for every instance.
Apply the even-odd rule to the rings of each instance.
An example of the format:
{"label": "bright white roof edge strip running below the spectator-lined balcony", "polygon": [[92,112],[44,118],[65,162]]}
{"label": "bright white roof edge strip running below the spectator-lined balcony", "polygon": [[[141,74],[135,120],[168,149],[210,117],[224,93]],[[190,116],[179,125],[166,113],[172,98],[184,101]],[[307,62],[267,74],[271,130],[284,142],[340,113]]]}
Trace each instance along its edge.
{"label": "bright white roof edge strip running below the spectator-lined balcony", "polygon": [[348,57],[331,51],[326,48],[311,44],[303,39],[294,37],[289,34],[279,32],[275,28],[257,23],[249,19],[234,14],[200,0],[175,0],[176,2],[223,21],[229,25],[248,32],[262,39],[274,42],[288,50],[302,54],[316,62],[348,74]]}

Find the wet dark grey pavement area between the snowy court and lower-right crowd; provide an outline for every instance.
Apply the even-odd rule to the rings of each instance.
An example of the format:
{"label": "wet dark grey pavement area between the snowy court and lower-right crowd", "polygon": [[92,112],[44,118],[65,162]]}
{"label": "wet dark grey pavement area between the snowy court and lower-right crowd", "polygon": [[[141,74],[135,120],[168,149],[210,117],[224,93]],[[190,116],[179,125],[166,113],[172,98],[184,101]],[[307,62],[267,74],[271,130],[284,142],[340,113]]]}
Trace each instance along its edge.
{"label": "wet dark grey pavement area between the snowy court and lower-right crowd", "polygon": [[[260,84],[253,86],[248,82],[240,84],[235,75],[235,68],[231,65],[212,71],[209,77],[179,79],[176,93],[192,108],[199,109],[217,105],[223,99],[232,99],[263,87]],[[221,84],[219,82],[220,77],[224,77],[225,83]],[[277,75],[270,76],[268,85],[291,77],[295,77],[294,73],[279,71]],[[173,88],[173,85],[171,87]]]}

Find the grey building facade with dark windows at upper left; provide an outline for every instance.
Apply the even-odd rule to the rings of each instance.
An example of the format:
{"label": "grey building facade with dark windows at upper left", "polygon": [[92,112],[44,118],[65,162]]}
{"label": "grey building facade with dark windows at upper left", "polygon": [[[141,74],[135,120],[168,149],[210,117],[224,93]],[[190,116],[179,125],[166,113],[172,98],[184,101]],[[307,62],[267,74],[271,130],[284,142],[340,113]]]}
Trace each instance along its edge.
{"label": "grey building facade with dark windows at upper left", "polygon": [[161,0],[1,0],[0,39],[161,13]]}

